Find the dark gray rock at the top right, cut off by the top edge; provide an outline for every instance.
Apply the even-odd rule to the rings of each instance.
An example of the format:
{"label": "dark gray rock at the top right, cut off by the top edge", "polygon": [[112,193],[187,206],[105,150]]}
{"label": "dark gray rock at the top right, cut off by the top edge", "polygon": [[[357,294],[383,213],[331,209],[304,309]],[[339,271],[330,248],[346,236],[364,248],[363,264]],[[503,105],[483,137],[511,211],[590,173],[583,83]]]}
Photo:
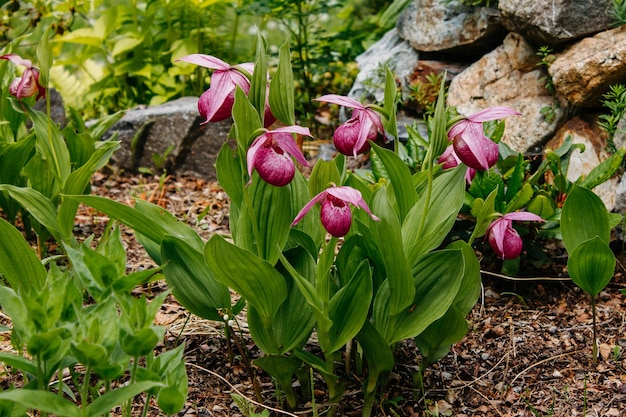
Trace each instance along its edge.
{"label": "dark gray rock at the top right, cut off by the top edge", "polygon": [[536,46],[559,47],[611,28],[611,0],[500,0],[502,24]]}

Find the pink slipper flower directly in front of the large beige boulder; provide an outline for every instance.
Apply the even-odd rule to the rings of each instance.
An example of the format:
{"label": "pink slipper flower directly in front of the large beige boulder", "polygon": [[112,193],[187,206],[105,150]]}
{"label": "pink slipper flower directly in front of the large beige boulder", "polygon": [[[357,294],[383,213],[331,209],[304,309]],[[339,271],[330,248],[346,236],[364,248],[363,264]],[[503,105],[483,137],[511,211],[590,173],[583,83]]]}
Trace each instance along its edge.
{"label": "pink slipper flower directly in front of the large beige boulder", "polygon": [[483,122],[519,115],[515,110],[504,107],[490,107],[456,123],[448,131],[454,151],[468,167],[488,170],[498,162],[498,145],[485,136]]}

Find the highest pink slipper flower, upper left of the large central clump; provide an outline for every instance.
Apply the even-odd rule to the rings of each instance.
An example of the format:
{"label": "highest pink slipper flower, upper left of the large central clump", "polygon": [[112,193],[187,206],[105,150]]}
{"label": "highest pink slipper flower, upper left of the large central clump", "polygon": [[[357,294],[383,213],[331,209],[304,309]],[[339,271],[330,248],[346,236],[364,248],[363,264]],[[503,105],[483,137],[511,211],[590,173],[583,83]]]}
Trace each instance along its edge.
{"label": "highest pink slipper flower, upper left of the large central clump", "polygon": [[231,116],[237,86],[246,94],[250,91],[250,80],[241,70],[252,74],[254,70],[252,63],[231,66],[219,58],[202,54],[187,55],[177,61],[215,70],[211,76],[211,87],[202,93],[198,100],[198,111],[206,119],[202,124],[221,122]]}

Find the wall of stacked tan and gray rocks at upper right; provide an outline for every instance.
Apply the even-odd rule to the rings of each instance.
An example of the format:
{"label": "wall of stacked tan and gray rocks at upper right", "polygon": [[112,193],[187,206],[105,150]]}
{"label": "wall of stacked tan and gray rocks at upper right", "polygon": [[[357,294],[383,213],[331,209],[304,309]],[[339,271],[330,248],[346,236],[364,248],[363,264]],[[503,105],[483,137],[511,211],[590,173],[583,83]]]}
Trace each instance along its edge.
{"label": "wall of stacked tan and gray rocks at upper right", "polygon": [[[404,94],[422,62],[439,60],[442,69],[462,66],[461,71],[452,72],[448,104],[461,114],[498,105],[520,111],[522,116],[507,119],[503,136],[505,143],[520,152],[542,152],[571,134],[575,143],[586,146],[584,153],[575,155],[568,171],[568,178],[575,180],[607,157],[607,135],[591,129],[581,118],[597,120],[607,112],[601,100],[610,86],[626,84],[626,26],[613,27],[611,3],[500,0],[497,9],[487,9],[414,0],[398,19],[397,28],[366,52],[370,59],[352,91],[358,91],[359,98],[379,96],[380,92],[367,90],[373,84],[360,80],[368,79],[368,68],[381,64],[395,68],[395,59],[377,53],[389,43],[415,51],[413,62],[402,58],[404,73],[409,74],[398,74]],[[538,53],[542,47],[551,51],[544,61]],[[371,59],[377,56],[381,59]],[[625,145],[624,137],[623,131],[616,136],[618,147]],[[609,209],[626,209],[626,199],[620,194],[626,190],[624,181],[618,187],[620,179],[614,178],[594,190]]]}

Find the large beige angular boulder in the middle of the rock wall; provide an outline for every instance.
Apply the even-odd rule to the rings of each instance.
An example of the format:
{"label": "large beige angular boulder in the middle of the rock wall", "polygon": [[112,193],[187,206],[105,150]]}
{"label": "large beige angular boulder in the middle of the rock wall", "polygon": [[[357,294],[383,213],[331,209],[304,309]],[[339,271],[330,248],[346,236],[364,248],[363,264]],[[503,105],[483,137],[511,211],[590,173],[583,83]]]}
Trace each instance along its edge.
{"label": "large beige angular boulder in the middle of the rock wall", "polygon": [[506,119],[503,141],[525,152],[549,140],[564,117],[553,108],[553,119],[542,109],[554,106],[545,88],[545,71],[537,66],[533,47],[520,35],[510,33],[503,44],[456,76],[448,90],[448,104],[470,115],[493,106],[508,106],[521,116]]}

